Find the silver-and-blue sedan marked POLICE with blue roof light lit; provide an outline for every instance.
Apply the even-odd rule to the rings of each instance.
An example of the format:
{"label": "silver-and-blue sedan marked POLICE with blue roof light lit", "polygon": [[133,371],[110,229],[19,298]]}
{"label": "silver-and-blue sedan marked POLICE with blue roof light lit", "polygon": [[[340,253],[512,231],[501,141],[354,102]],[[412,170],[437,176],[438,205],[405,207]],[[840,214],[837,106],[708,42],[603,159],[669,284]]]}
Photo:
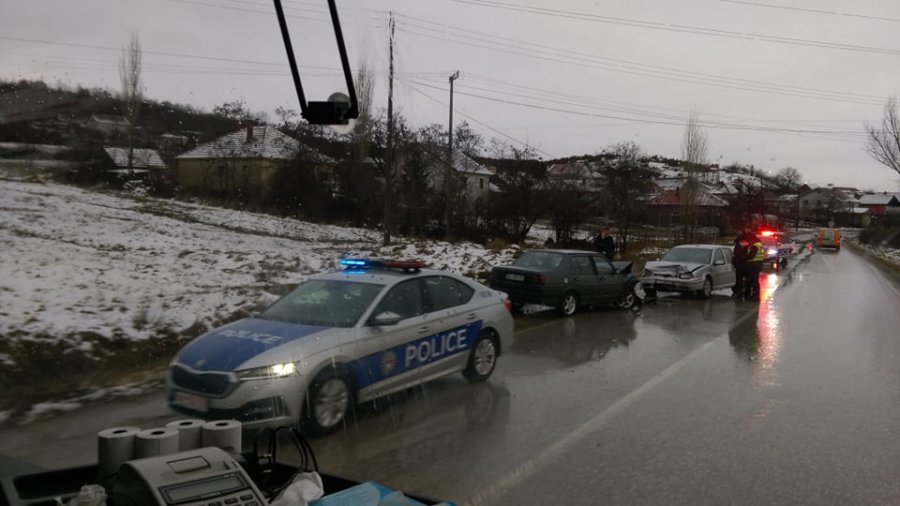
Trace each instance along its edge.
{"label": "silver-and-blue sedan marked POLICE with blue roof light lit", "polygon": [[248,429],[340,428],[354,403],[462,372],[490,377],[513,337],[506,295],[418,261],[343,259],[259,315],[178,352],[169,406]]}

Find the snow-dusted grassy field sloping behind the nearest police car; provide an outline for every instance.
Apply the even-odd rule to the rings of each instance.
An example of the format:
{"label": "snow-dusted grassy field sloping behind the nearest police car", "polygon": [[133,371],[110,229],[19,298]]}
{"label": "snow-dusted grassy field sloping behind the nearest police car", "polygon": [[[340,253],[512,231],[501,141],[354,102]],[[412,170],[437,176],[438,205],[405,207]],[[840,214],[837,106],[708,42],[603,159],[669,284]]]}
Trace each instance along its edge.
{"label": "snow-dusted grassy field sloping behind the nearest police car", "polygon": [[[347,253],[423,258],[470,276],[514,250],[400,240],[172,200],[0,180],[0,335],[140,341],[258,307]],[[14,365],[8,355],[0,363]]]}

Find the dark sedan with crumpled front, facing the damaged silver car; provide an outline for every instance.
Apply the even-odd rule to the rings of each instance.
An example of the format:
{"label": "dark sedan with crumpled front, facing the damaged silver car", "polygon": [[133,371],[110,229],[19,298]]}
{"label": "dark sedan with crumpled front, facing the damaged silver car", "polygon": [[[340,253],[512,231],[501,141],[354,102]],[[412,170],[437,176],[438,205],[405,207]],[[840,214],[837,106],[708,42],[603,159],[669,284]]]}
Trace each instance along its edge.
{"label": "dark sedan with crumpled front, facing the damaged silver car", "polygon": [[527,251],[512,265],[494,267],[490,285],[506,292],[513,308],[540,304],[556,307],[566,316],[582,306],[630,308],[643,297],[631,262],[610,262],[593,251]]}

